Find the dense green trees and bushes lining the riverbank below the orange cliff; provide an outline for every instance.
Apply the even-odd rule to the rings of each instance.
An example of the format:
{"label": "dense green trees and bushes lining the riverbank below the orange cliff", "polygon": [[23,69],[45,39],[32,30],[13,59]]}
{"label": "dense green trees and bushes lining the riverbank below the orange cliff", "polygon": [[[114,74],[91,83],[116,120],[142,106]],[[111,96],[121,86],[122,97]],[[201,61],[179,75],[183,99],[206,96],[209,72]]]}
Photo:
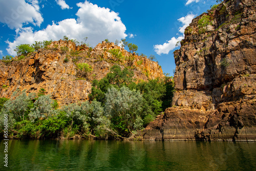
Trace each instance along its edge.
{"label": "dense green trees and bushes lining the riverbank below the orange cliff", "polygon": [[44,89],[38,94],[16,91],[10,99],[0,98],[1,137],[4,114],[8,114],[13,138],[129,137],[170,106],[174,91],[168,77],[138,81],[133,75],[127,68],[113,66],[104,78],[93,81],[90,101],[61,108]]}

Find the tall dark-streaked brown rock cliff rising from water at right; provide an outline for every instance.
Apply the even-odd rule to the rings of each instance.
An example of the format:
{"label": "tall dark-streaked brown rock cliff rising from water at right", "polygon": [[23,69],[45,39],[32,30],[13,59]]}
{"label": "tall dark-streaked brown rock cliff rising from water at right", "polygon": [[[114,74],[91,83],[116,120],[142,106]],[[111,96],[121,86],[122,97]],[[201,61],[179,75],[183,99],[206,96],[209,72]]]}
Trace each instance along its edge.
{"label": "tall dark-streaked brown rock cliff rising from water at right", "polygon": [[255,9],[253,0],[224,1],[193,19],[174,53],[173,108],[144,139],[256,140]]}

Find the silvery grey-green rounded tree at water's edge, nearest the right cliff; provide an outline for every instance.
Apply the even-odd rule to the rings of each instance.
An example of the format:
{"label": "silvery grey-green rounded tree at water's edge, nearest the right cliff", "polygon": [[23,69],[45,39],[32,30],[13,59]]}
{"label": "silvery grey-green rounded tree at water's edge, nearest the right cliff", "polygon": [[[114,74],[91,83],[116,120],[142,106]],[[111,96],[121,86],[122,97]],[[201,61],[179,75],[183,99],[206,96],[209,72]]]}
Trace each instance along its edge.
{"label": "silvery grey-green rounded tree at water's edge, nearest the right cliff", "polygon": [[134,123],[142,111],[143,97],[139,91],[131,91],[127,87],[120,90],[112,87],[106,93],[104,115],[110,118],[113,130],[121,136],[129,136],[132,131],[138,129],[138,123]]}

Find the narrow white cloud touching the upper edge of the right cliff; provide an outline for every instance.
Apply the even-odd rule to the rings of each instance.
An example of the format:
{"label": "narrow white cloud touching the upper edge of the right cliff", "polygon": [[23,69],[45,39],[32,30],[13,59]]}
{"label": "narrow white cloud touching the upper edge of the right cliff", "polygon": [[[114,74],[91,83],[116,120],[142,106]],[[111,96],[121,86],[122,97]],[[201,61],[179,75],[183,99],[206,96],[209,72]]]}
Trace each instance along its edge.
{"label": "narrow white cloud touching the upper edge of the right cliff", "polygon": [[192,19],[195,18],[195,16],[196,15],[194,14],[187,14],[185,17],[179,18],[178,21],[181,22],[183,25],[182,27],[179,28],[179,32],[183,33],[183,35],[179,36],[178,38],[173,37],[169,41],[165,42],[163,45],[155,45],[154,46],[155,52],[158,55],[168,54],[169,51],[175,49],[177,42],[184,39],[185,28],[191,23]]}

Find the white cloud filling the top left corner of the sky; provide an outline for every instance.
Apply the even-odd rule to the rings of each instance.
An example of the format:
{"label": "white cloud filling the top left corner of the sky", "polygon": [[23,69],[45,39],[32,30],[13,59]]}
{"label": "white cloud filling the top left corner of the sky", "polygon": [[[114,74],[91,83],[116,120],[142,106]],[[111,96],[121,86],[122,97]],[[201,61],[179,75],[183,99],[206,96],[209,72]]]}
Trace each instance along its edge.
{"label": "white cloud filling the top left corner of the sky", "polygon": [[22,28],[29,23],[40,26],[44,18],[39,12],[38,1],[29,2],[31,4],[25,0],[1,1],[0,22],[7,24],[10,29]]}

